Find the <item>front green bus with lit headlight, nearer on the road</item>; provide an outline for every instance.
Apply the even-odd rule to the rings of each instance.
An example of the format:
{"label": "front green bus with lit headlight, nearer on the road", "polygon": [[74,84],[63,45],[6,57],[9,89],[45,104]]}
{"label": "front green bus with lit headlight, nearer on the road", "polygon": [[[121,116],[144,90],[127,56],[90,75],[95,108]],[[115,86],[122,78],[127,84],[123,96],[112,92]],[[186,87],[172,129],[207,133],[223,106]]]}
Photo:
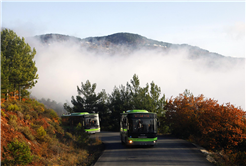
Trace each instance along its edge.
{"label": "front green bus with lit headlight, nearer on the road", "polygon": [[125,145],[156,145],[156,113],[146,110],[128,110],[121,113],[120,137]]}

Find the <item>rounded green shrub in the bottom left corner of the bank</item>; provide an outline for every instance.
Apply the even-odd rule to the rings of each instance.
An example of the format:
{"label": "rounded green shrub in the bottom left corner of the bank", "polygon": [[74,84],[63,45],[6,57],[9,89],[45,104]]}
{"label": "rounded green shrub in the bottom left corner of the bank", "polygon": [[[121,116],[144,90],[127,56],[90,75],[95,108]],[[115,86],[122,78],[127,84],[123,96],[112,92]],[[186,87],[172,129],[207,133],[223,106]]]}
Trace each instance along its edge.
{"label": "rounded green shrub in the bottom left corner of the bank", "polygon": [[2,165],[27,165],[32,162],[33,155],[30,147],[25,142],[19,142],[17,139],[4,147],[2,154],[4,160]]}

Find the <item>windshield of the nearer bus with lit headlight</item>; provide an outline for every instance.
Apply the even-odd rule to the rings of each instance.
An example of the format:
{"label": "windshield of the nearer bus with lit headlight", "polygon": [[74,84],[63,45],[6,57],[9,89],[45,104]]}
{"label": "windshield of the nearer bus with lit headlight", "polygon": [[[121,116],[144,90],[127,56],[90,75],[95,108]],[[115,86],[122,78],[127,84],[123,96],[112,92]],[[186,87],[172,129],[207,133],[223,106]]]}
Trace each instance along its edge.
{"label": "windshield of the nearer bus with lit headlight", "polygon": [[156,133],[155,119],[129,119],[130,133]]}

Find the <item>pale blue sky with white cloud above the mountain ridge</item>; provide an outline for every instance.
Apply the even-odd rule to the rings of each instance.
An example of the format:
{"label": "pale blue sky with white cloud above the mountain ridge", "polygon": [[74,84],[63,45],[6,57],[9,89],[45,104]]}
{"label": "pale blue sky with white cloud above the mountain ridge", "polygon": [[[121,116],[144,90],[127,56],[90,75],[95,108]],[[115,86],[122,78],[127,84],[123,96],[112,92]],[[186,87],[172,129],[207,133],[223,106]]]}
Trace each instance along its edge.
{"label": "pale blue sky with white cloud above the mountain ridge", "polygon": [[1,26],[24,37],[59,33],[86,38],[129,32],[224,56],[245,56],[243,0],[1,0]]}

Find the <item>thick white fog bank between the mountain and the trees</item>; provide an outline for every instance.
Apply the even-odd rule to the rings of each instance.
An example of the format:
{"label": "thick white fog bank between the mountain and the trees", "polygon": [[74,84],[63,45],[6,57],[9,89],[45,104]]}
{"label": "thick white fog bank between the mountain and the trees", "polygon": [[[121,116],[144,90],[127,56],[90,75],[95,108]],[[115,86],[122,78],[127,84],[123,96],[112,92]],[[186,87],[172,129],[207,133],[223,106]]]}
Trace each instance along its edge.
{"label": "thick white fog bank between the mountain and the trees", "polygon": [[[37,98],[50,98],[65,103],[77,95],[77,86],[89,80],[97,84],[97,92],[111,93],[114,86],[126,85],[137,74],[141,87],[154,81],[166,98],[176,97],[185,89],[195,96],[234,104],[245,110],[245,68],[242,60],[188,58],[188,51],[168,53],[139,50],[130,55],[96,54],[74,43],[53,43],[42,46],[30,41],[37,50],[35,56],[39,79],[31,90]],[[244,60],[243,60],[244,61]]]}

